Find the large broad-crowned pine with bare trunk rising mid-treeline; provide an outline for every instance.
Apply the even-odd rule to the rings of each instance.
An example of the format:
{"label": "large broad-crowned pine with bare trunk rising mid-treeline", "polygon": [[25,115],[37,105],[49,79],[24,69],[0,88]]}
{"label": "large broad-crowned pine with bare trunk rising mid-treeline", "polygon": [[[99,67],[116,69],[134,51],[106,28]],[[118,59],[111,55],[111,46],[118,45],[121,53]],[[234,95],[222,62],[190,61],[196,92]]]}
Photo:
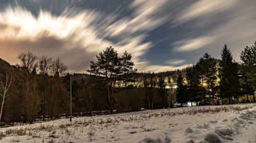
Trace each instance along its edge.
{"label": "large broad-crowned pine with bare trunk rising mid-treeline", "polygon": [[136,69],[133,69],[134,64],[131,61],[131,54],[125,51],[123,56],[119,57],[117,51],[111,46],[100,52],[96,58],[96,62],[91,61],[88,72],[104,77],[108,89],[108,107],[113,113],[113,95],[117,80],[120,77],[126,77],[124,75],[135,73]]}

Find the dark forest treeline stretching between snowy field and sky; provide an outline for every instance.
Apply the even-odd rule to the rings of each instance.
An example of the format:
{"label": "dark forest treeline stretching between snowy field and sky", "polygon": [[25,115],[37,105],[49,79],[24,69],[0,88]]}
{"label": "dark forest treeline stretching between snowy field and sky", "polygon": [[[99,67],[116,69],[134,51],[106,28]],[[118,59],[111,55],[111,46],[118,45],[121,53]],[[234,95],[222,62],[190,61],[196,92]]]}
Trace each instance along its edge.
{"label": "dark forest treeline stretching between snowy field and sky", "polygon": [[[138,73],[131,54],[108,47],[92,61],[88,74],[69,74],[60,58],[18,55],[19,65],[0,60],[0,121],[54,120],[192,105],[255,102],[256,42],[235,62],[225,44],[221,59],[205,53],[182,70]],[[70,78],[71,77],[71,78]],[[71,81],[70,81],[71,79]],[[70,83],[71,89],[70,90]]]}

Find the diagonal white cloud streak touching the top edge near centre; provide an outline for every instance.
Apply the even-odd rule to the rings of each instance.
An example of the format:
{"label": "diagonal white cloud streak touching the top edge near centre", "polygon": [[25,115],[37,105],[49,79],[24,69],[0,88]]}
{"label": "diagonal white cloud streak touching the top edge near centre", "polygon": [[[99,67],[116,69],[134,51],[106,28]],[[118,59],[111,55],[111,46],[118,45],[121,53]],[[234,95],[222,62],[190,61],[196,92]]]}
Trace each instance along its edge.
{"label": "diagonal white cloud streak touching the top edge near centre", "polygon": [[167,2],[167,0],[133,1],[130,9],[135,9],[134,14],[131,17],[119,19],[113,25],[108,26],[106,32],[110,36],[125,35],[126,37],[135,32],[148,32],[148,30],[160,26],[166,20],[165,17],[157,17],[157,15],[161,7]]}

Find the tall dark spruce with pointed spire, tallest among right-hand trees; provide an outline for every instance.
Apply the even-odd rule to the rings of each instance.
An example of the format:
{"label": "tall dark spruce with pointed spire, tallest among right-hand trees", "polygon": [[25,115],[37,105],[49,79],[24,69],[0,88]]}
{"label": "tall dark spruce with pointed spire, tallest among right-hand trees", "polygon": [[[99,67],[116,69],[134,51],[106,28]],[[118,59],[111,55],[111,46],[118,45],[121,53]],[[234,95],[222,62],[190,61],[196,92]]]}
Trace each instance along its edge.
{"label": "tall dark spruce with pointed spire, tallest among right-hand trees", "polygon": [[220,77],[220,94],[224,98],[231,98],[238,95],[238,64],[233,61],[232,54],[226,44],[222,49],[222,59],[220,60],[219,77]]}

